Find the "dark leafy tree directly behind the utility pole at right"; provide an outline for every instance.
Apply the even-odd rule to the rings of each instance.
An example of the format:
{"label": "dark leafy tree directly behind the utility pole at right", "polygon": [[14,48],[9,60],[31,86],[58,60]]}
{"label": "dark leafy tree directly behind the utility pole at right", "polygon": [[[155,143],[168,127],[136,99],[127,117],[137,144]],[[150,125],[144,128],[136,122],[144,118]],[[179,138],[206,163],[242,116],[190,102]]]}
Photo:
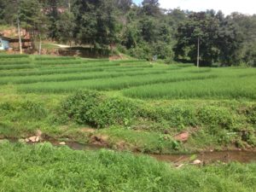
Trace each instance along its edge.
{"label": "dark leafy tree directly behind the utility pole at right", "polygon": [[196,63],[198,40],[201,65],[212,65],[218,60],[218,19],[207,12],[193,13],[177,28],[176,58],[189,56]]}

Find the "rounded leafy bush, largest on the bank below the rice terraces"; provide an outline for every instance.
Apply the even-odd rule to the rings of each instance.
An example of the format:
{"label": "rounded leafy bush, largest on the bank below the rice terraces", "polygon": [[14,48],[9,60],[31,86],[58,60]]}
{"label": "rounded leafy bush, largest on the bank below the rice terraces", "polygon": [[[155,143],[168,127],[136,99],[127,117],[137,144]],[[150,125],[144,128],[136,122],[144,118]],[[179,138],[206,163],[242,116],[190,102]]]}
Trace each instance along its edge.
{"label": "rounded leafy bush, largest on the bank below the rice terraces", "polygon": [[62,102],[61,111],[79,124],[102,128],[109,125],[129,125],[136,116],[136,108],[131,100],[85,90]]}

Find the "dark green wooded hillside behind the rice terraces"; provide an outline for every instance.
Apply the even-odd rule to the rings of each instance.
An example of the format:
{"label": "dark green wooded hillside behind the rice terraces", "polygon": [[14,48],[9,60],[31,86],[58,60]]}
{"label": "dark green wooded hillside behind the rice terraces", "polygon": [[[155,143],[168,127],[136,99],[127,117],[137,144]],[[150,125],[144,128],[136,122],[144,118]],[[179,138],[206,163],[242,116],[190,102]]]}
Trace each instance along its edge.
{"label": "dark green wooded hillside behind the rice terraces", "polygon": [[[256,15],[160,9],[158,0],[0,0],[0,23],[32,39],[116,49],[151,60],[256,66]],[[36,48],[36,47],[35,47]]]}

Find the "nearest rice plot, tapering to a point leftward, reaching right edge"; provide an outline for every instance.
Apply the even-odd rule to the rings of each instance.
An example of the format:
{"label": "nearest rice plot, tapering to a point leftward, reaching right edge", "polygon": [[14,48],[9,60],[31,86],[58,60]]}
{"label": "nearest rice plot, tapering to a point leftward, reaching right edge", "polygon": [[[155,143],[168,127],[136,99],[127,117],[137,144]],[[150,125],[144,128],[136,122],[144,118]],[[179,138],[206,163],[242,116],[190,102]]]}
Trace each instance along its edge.
{"label": "nearest rice plot, tapering to a point leftward, reaching right edge", "polygon": [[144,99],[212,98],[212,99],[256,99],[254,77],[221,77],[183,81],[171,84],[149,84],[123,90],[125,96]]}

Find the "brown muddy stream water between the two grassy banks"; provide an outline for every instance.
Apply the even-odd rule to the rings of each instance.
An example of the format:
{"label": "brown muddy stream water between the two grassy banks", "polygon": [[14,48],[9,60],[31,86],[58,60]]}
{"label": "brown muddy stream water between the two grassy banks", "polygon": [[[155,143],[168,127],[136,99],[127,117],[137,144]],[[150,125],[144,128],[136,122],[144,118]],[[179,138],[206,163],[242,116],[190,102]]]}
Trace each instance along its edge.
{"label": "brown muddy stream water between the two grassy banks", "polygon": [[[53,143],[54,144],[54,143]],[[66,143],[69,148],[74,150],[96,150],[101,147],[95,145],[84,145],[80,143]],[[58,145],[58,144],[55,144]],[[200,154],[148,154],[156,160],[172,162],[172,163],[189,163],[193,160],[201,160],[204,163],[213,163],[217,161],[231,162],[237,161],[241,163],[256,162],[256,152],[254,151],[212,151]]]}

